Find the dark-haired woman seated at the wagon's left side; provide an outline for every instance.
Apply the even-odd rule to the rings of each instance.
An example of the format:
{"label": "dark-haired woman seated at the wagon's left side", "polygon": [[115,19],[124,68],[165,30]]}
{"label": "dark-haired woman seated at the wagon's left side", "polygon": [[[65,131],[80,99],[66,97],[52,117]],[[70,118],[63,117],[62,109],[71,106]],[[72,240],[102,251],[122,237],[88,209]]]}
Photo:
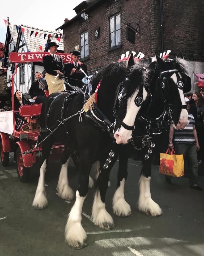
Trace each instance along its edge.
{"label": "dark-haired woman seated at the wagon's left side", "polygon": [[[22,91],[17,90],[14,93],[14,110],[19,110],[22,105],[32,105],[32,103],[23,97]],[[15,129],[20,130],[20,128],[27,123],[28,117],[22,117],[18,112],[15,112]]]}

